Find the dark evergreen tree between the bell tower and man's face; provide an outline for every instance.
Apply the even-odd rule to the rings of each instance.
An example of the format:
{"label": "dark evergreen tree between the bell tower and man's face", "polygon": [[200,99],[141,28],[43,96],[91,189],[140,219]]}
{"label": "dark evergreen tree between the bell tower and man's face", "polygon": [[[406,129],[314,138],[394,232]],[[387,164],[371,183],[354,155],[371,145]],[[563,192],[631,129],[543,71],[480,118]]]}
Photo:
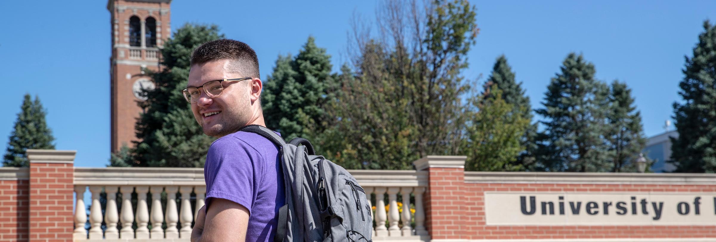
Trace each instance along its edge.
{"label": "dark evergreen tree between the bell tower and man's face", "polygon": [[[190,57],[200,44],[223,38],[218,26],[185,24],[161,49],[163,70],[150,72],[155,89],[144,92],[145,110],[137,120],[135,148],[112,156],[110,165],[201,168],[213,137],[204,135],[181,90],[189,77]],[[120,150],[121,151],[121,150]],[[130,155],[127,155],[130,153]]]}

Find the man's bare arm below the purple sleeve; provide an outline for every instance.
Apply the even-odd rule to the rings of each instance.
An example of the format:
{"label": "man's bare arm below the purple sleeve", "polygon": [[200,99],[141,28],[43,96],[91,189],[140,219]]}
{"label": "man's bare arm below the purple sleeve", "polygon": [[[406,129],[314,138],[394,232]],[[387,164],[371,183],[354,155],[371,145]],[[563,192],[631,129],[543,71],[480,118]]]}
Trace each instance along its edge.
{"label": "man's bare arm below the purple sleeve", "polygon": [[[249,214],[243,205],[223,198],[212,198],[205,221],[200,221],[199,216],[202,215],[198,213],[196,218],[195,227],[198,228],[191,233],[192,242],[246,241]],[[200,222],[204,222],[203,226]]]}

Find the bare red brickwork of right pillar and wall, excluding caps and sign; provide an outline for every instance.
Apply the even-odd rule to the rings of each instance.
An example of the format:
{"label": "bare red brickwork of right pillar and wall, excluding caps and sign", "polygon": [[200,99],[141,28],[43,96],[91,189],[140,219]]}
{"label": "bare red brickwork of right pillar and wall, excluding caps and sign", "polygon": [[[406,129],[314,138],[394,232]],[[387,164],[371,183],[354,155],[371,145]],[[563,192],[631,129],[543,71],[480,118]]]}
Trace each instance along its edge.
{"label": "bare red brickwork of right pillar and wall, excluding caps and sign", "polygon": [[[441,174],[439,172],[438,174]],[[716,185],[648,185],[648,184],[516,184],[516,183],[463,183],[460,187],[458,174],[445,173],[445,179],[437,184],[447,188],[431,191],[442,202],[432,207],[432,238],[463,239],[575,239],[575,238],[715,238],[715,226],[486,226],[484,193],[508,192],[696,192],[716,193]],[[452,177],[452,178],[451,178]],[[432,170],[431,170],[431,176]],[[460,192],[462,191],[462,192]],[[436,194],[437,193],[437,194]],[[464,201],[458,207],[455,200]],[[436,204],[434,199],[431,205]],[[463,222],[463,224],[460,224]],[[464,231],[463,235],[458,231]]]}

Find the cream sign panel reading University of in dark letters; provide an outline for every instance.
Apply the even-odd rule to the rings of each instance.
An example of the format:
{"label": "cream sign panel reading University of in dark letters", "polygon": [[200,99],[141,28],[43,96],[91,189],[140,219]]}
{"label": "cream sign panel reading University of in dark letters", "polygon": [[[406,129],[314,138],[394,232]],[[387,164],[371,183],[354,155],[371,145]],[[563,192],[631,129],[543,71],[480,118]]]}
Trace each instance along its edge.
{"label": "cream sign panel reading University of in dark letters", "polygon": [[714,225],[716,194],[485,193],[490,225]]}

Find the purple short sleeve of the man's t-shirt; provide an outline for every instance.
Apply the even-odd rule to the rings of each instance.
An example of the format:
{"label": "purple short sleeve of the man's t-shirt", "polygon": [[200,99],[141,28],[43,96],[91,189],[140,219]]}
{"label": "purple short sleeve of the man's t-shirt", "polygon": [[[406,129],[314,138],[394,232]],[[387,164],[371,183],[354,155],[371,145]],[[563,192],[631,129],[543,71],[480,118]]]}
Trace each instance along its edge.
{"label": "purple short sleeve of the man's t-shirt", "polygon": [[231,200],[246,207],[251,213],[256,201],[256,167],[261,154],[243,140],[223,137],[214,142],[206,155],[204,179],[206,181],[206,208],[213,198]]}

